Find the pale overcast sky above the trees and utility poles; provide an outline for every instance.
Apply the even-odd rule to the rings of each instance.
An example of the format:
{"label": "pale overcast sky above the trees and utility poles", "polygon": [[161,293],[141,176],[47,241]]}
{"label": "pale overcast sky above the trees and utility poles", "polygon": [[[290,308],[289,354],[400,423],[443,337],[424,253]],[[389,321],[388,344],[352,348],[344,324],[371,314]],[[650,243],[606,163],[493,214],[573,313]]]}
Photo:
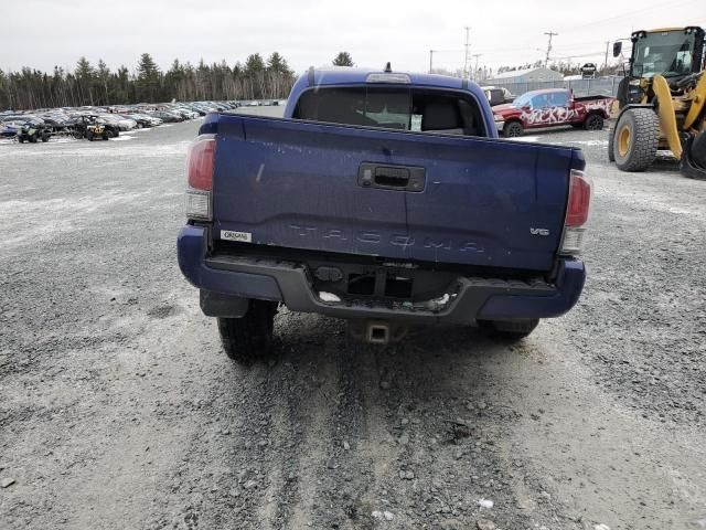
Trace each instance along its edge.
{"label": "pale overcast sky above the trees and utility poles", "polygon": [[480,65],[544,59],[546,31],[558,33],[553,57],[602,63],[606,41],[632,30],[706,26],[706,0],[645,2],[631,13],[634,2],[610,0],[0,0],[0,68],[73,70],[85,55],[132,71],[143,52],[162,68],[174,57],[233,65],[278,51],[299,72],[345,50],[361,66],[426,71],[437,50],[435,67],[453,71],[467,25]]}

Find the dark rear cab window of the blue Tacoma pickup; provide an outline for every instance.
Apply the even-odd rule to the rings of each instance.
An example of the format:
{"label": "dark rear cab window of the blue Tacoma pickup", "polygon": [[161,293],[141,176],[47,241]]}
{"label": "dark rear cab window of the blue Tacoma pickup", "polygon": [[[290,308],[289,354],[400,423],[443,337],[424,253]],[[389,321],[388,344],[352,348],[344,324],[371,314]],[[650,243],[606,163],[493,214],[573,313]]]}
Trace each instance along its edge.
{"label": "dark rear cab window of the blue Tacoma pickup", "polygon": [[304,92],[295,119],[385,129],[485,137],[470,94],[416,87],[324,87]]}

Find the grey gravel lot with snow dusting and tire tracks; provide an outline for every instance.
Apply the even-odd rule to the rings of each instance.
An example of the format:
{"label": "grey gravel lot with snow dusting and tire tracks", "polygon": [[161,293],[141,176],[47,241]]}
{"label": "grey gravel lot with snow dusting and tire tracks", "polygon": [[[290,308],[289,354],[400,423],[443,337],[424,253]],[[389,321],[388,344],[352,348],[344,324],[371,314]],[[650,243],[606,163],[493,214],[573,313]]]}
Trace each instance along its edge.
{"label": "grey gravel lot with snow dusting and tire tracks", "polygon": [[533,137],[596,182],[573,312],[379,349],[285,310],[245,370],[176,266],[196,127],[0,145],[0,528],[706,528],[706,182]]}

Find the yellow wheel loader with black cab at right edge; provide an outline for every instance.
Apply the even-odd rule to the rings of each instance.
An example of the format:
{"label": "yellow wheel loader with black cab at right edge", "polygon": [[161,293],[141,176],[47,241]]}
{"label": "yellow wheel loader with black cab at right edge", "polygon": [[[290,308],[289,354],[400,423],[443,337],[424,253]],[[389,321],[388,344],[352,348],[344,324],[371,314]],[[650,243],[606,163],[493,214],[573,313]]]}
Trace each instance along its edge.
{"label": "yellow wheel loader with black cab at right edge", "polygon": [[[608,158],[623,171],[644,171],[657,149],[668,149],[683,174],[706,179],[704,30],[637,31],[630,40],[630,68],[618,87]],[[618,41],[613,56],[621,51]]]}

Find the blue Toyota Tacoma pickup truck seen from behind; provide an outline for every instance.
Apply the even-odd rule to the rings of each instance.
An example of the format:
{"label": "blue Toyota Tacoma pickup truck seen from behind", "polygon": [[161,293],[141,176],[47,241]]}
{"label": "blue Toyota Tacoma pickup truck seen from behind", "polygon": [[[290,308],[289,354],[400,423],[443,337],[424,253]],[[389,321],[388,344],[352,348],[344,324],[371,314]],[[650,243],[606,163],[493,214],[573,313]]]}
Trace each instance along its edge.
{"label": "blue Toyota Tacoma pickup truck seen from behind", "polygon": [[284,118],[205,118],[179,265],[240,362],[267,352],[279,305],[373,343],[413,325],[522,338],[584,287],[584,169],[579,149],[499,139],[473,83],[310,68]]}

